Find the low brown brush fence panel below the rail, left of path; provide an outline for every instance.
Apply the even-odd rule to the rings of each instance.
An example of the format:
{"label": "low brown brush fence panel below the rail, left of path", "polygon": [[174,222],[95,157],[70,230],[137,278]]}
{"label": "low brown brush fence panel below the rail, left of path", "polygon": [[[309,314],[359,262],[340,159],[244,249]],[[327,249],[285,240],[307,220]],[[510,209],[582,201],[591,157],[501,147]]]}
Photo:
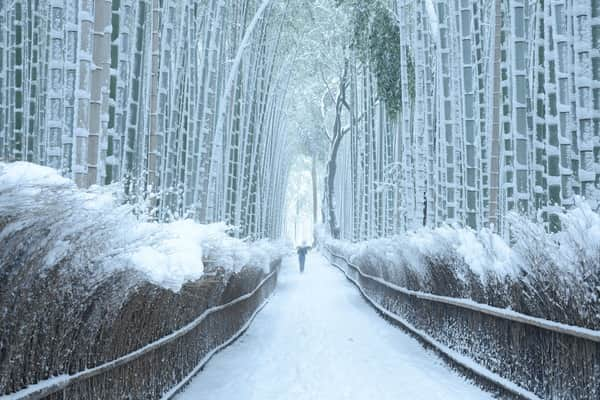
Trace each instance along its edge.
{"label": "low brown brush fence panel below the rail, left of path", "polygon": [[39,382],[2,400],[170,399],[220,349],[239,337],[277,284],[281,259],[250,293],[204,311],[177,331],[74,375]]}

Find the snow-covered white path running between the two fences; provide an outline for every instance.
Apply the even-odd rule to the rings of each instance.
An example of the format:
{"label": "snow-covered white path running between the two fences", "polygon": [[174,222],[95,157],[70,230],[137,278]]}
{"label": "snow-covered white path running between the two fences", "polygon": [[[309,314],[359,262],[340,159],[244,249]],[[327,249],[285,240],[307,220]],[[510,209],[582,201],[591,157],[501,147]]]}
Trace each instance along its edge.
{"label": "snow-covered white path running between the two fences", "polygon": [[250,329],[178,400],[490,399],[381,318],[341,272],[311,254],[283,265]]}

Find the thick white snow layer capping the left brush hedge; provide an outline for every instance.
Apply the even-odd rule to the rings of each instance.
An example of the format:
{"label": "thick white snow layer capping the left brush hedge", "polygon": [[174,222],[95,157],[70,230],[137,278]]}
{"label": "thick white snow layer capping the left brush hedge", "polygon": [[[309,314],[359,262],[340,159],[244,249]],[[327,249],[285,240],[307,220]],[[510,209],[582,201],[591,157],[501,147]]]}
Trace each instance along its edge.
{"label": "thick white snow layer capping the left brush hedge", "polygon": [[131,268],[174,291],[199,279],[205,262],[232,271],[244,266],[268,270],[271,260],[289,251],[284,242],[232,238],[222,223],[145,222],[139,214],[144,205],[135,205],[136,214],[121,193],[120,186],[77,189],[48,167],[0,163],[0,218],[9,221],[0,225],[0,241],[24,229],[48,229],[46,242],[37,243],[46,254],[45,268],[71,257],[73,264],[108,273]]}

